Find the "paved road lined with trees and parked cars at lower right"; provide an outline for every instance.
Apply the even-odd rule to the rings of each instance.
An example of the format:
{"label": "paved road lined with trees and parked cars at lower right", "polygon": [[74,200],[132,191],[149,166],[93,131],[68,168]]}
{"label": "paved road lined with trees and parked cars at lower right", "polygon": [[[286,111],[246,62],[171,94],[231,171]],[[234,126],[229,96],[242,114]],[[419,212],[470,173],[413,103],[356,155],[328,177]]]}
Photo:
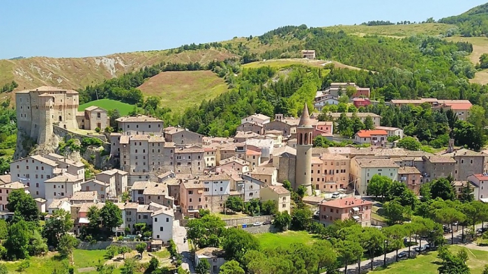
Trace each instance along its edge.
{"label": "paved road lined with trees and parked cars at lower right", "polygon": [[[478,229],[480,227],[481,227],[481,224],[476,225],[476,229]],[[464,236],[466,236],[466,227],[464,228]],[[450,243],[451,234],[445,234],[444,238],[448,239],[448,243]],[[461,227],[459,227],[459,231],[454,232],[454,243],[455,244],[461,243],[461,238],[462,238],[462,229],[461,229]],[[427,243],[427,241],[422,240],[422,245],[425,245],[426,243]],[[416,256],[416,254],[417,254],[417,252],[413,251],[413,248],[415,248],[415,246],[411,247],[411,257]],[[408,252],[409,248],[402,248],[401,250],[398,250],[398,253],[402,252],[402,251]],[[388,265],[388,264],[392,264],[393,262],[395,262],[396,256],[397,256],[396,251],[387,253],[386,254],[386,264]],[[375,257],[374,261],[373,261],[373,268],[376,268],[378,266],[383,266],[383,259],[384,259],[383,255],[381,255],[379,257]],[[371,270],[371,260],[367,259],[366,261],[361,261],[361,273],[367,272],[370,270]],[[340,268],[339,271],[344,273],[344,268]],[[350,264],[349,266],[347,266],[347,273],[348,274],[358,273],[358,264]],[[325,273],[321,273],[321,274],[325,274]]]}

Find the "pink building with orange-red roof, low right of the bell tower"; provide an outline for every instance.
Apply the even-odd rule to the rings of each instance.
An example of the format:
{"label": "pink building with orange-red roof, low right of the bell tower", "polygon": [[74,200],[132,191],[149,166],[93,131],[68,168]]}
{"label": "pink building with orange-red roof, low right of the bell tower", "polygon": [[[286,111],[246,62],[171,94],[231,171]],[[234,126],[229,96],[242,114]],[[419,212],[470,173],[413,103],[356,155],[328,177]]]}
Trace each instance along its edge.
{"label": "pink building with orange-red roof, low right of the bell tower", "polygon": [[363,227],[371,225],[372,202],[356,197],[339,198],[320,204],[320,222],[333,224],[336,220],[356,220]]}

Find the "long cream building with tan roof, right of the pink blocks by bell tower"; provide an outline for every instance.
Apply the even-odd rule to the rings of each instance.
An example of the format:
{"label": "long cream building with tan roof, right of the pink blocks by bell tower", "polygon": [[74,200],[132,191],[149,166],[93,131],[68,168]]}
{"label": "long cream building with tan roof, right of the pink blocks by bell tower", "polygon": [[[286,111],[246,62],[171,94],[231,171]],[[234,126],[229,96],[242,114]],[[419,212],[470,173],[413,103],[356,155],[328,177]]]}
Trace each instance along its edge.
{"label": "long cream building with tan roof, right of the pink blocks by bell tower", "polygon": [[397,180],[398,169],[399,165],[392,159],[355,157],[351,160],[351,182],[359,195],[366,195],[367,185],[374,175]]}

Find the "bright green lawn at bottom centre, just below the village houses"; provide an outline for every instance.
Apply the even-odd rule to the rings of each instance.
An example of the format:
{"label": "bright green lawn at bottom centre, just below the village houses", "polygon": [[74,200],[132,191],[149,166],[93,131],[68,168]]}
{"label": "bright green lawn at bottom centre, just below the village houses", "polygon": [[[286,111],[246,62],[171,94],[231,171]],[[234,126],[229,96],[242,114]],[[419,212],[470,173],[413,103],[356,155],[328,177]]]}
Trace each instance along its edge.
{"label": "bright green lawn at bottom centre, just below the village houses", "polygon": [[292,243],[310,244],[315,241],[307,231],[284,231],[280,233],[263,233],[256,235],[261,248],[286,247]]}

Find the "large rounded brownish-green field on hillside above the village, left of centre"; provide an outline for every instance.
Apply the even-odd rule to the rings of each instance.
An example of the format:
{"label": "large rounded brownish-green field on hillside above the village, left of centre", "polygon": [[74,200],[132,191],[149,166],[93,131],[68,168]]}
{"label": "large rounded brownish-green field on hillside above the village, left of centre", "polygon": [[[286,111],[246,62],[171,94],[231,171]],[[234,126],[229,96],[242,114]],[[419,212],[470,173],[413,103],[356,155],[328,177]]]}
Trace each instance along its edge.
{"label": "large rounded brownish-green field on hillside above the village, left of centre", "polygon": [[162,107],[182,112],[224,93],[227,84],[210,70],[165,71],[147,79],[137,89],[145,96],[159,96]]}

